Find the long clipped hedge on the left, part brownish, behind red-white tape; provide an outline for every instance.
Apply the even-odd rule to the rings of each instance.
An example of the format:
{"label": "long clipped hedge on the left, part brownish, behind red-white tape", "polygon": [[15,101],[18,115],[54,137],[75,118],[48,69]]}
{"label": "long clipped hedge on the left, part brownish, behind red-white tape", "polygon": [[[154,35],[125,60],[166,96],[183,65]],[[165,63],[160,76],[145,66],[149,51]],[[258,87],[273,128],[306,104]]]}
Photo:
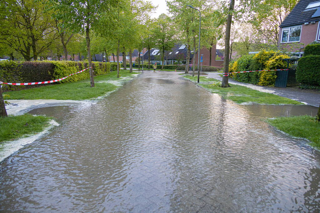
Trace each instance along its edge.
{"label": "long clipped hedge on the left, part brownish, behind red-white tape", "polygon": [[[40,62],[15,62],[0,61],[0,80],[10,83],[29,83],[49,81],[66,77],[72,73],[88,68],[88,62],[74,61],[40,61]],[[94,75],[102,75],[110,72],[110,63],[92,62]],[[89,71],[72,75],[56,84],[75,82],[90,77]],[[40,84],[41,85],[41,84]],[[3,90],[19,90],[25,87],[36,87],[39,85],[11,86],[3,84]]]}

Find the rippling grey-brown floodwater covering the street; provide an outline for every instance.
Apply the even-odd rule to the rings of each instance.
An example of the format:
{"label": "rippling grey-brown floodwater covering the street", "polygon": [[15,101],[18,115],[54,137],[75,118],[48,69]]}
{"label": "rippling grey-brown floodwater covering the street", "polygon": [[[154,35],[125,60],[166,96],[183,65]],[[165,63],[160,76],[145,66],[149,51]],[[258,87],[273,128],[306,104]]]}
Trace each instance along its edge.
{"label": "rippling grey-brown floodwater covering the street", "polygon": [[319,212],[319,151],[263,121],[316,111],[145,72],[94,105],[33,109],[60,126],[0,164],[0,211]]}

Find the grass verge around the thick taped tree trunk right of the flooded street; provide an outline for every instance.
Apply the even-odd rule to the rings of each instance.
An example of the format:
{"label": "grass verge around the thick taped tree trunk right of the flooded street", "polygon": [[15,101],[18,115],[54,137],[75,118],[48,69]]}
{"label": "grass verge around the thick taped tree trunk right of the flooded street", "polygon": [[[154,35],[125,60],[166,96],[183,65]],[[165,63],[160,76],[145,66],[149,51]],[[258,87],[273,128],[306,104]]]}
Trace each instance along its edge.
{"label": "grass verge around the thick taped tree trunk right of the flooded street", "polygon": [[[197,76],[184,76],[192,81],[197,81]],[[231,87],[220,87],[221,81],[214,78],[200,76],[200,86],[206,88],[212,93],[217,93],[225,99],[232,100],[238,104],[250,102],[257,104],[302,104],[299,101],[280,97],[267,92],[260,92],[245,86],[230,84]]]}

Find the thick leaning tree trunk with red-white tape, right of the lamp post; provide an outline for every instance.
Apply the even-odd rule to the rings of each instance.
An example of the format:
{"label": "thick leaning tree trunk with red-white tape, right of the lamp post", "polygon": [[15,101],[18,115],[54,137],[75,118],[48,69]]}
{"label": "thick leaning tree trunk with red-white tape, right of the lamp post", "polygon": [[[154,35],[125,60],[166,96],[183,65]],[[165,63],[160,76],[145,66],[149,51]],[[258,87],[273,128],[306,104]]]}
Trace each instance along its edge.
{"label": "thick leaning tree trunk with red-white tape, right of the lamp post", "polygon": [[[224,45],[224,60],[223,60],[223,72],[229,72],[229,45],[230,45],[230,29],[231,29],[231,21],[232,21],[232,11],[235,7],[235,0],[230,0],[229,14],[227,17],[227,25],[226,25],[226,39]],[[222,77],[221,87],[230,87],[228,76]]]}

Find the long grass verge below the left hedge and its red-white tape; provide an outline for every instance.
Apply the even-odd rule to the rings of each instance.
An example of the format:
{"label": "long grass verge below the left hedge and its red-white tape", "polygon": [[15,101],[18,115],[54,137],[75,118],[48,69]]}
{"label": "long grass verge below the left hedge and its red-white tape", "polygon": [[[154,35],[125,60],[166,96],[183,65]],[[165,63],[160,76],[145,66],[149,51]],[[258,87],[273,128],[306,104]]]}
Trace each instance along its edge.
{"label": "long grass verge below the left hedge and its red-white tape", "polygon": [[[133,74],[138,73],[120,71],[121,77],[128,77]],[[94,77],[95,87],[90,87],[90,79],[86,79],[82,81],[70,82],[65,84],[50,84],[47,86],[30,88],[26,90],[4,92],[4,94],[6,94],[6,96],[4,96],[4,99],[85,100],[97,98],[117,88],[116,85],[105,82],[119,80],[119,78],[117,78],[116,76],[116,72],[110,72],[105,75],[99,75]],[[98,83],[99,81],[103,81],[103,83]]]}

